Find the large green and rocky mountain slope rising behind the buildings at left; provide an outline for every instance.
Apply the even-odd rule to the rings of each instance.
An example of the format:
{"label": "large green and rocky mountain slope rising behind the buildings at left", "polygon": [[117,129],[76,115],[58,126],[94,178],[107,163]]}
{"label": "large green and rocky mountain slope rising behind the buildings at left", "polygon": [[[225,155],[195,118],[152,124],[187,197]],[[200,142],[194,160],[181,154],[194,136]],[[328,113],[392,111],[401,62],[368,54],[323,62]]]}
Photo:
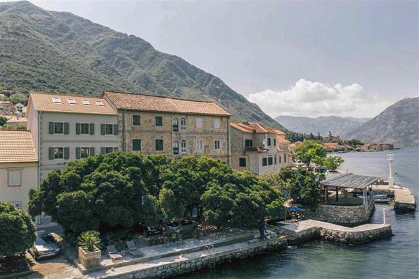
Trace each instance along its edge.
{"label": "large green and rocky mountain slope rising behind the buildings at left", "polygon": [[0,89],[89,95],[112,90],[213,100],[235,121],[284,129],[219,77],[141,38],[71,13],[27,1],[0,3],[0,45]]}

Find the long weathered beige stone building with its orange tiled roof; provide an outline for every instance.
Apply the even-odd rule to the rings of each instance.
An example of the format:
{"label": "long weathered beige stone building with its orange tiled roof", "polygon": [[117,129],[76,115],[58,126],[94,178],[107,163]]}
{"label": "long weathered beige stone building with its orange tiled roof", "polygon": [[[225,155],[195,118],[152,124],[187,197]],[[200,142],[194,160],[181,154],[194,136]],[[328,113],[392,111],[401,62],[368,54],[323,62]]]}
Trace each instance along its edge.
{"label": "long weathered beige stone building with its orange tiled roof", "polygon": [[109,91],[102,98],[118,112],[123,151],[210,156],[228,163],[230,114],[216,103]]}

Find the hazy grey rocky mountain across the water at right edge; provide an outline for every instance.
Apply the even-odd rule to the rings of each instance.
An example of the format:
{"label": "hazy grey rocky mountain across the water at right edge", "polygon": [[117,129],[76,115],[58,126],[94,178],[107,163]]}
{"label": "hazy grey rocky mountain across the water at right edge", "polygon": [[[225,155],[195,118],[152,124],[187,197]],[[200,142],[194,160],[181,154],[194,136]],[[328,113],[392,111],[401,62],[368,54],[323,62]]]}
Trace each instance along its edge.
{"label": "hazy grey rocky mountain across the water at right edge", "polygon": [[419,145],[419,97],[399,100],[348,136],[395,146]]}

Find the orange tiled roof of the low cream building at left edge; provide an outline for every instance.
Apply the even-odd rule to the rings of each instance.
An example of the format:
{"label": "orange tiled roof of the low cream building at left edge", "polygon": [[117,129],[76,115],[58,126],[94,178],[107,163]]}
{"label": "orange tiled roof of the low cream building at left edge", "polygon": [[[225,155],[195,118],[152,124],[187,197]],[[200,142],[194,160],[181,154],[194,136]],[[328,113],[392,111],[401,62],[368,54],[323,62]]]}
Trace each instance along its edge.
{"label": "orange tiled roof of the low cream building at left edge", "polygon": [[0,130],[0,163],[38,162],[29,130]]}

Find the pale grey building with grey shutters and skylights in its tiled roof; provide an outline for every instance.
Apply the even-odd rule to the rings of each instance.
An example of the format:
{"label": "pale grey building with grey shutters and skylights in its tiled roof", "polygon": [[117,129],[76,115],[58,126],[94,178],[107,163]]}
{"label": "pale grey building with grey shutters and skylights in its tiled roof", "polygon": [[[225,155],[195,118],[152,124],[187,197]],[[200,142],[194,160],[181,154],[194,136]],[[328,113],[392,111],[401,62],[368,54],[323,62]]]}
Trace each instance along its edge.
{"label": "pale grey building with grey shutters and skylights in its tiled roof", "polygon": [[103,98],[30,93],[27,119],[40,182],[72,160],[117,149],[117,112]]}

